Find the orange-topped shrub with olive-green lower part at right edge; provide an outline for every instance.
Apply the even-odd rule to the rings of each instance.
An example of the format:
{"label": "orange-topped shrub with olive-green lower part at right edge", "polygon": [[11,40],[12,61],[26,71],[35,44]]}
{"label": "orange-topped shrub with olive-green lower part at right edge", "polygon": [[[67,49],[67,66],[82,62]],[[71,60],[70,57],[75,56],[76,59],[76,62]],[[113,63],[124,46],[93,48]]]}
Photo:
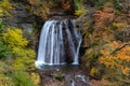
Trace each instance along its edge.
{"label": "orange-topped shrub with olive-green lower part at right edge", "polygon": [[99,62],[104,64],[104,78],[116,83],[118,86],[128,86],[130,84],[130,46],[129,44],[120,44],[112,42],[107,47],[101,49],[102,56]]}

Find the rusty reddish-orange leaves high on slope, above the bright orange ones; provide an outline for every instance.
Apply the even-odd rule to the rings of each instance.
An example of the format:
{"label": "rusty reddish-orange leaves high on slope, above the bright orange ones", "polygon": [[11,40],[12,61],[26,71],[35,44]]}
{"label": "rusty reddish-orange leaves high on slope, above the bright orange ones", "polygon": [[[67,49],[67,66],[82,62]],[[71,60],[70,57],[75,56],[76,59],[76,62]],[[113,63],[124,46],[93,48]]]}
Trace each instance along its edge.
{"label": "rusty reddish-orange leaves high on slope, above the bright orange ones", "polygon": [[108,43],[115,39],[112,29],[115,12],[113,8],[104,8],[103,11],[95,11],[93,13],[93,34],[95,41],[101,43]]}

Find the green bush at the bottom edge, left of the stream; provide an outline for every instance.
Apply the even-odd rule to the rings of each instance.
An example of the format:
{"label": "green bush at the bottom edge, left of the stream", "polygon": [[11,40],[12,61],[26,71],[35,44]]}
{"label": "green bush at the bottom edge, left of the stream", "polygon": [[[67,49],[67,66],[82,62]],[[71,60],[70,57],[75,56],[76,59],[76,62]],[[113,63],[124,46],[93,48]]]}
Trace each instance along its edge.
{"label": "green bush at the bottom edge, left of the stream", "polygon": [[25,71],[14,71],[12,77],[15,86],[35,86],[29,74]]}

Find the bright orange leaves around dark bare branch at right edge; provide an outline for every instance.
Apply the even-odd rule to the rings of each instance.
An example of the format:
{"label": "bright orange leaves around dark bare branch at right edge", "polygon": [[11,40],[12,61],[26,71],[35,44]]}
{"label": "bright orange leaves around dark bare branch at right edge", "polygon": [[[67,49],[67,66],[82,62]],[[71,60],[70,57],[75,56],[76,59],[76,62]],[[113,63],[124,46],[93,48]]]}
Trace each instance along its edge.
{"label": "bright orange leaves around dark bare branch at right edge", "polygon": [[102,56],[99,58],[99,62],[103,63],[106,68],[120,69],[122,74],[130,73],[130,46],[126,45],[121,49],[113,52],[120,47],[121,44],[114,41],[107,47],[101,49]]}

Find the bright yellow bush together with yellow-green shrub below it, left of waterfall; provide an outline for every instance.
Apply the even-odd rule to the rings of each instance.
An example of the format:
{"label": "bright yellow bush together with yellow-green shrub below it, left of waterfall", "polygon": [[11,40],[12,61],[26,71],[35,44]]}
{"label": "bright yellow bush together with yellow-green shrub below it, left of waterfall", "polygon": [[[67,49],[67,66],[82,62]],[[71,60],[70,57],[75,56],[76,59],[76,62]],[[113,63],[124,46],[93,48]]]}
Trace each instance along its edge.
{"label": "bright yellow bush together with yellow-green shrub below it, left of waterfall", "polygon": [[8,29],[3,33],[3,42],[14,56],[12,62],[14,70],[32,70],[35,68],[35,51],[27,48],[28,41],[23,37],[21,29]]}

